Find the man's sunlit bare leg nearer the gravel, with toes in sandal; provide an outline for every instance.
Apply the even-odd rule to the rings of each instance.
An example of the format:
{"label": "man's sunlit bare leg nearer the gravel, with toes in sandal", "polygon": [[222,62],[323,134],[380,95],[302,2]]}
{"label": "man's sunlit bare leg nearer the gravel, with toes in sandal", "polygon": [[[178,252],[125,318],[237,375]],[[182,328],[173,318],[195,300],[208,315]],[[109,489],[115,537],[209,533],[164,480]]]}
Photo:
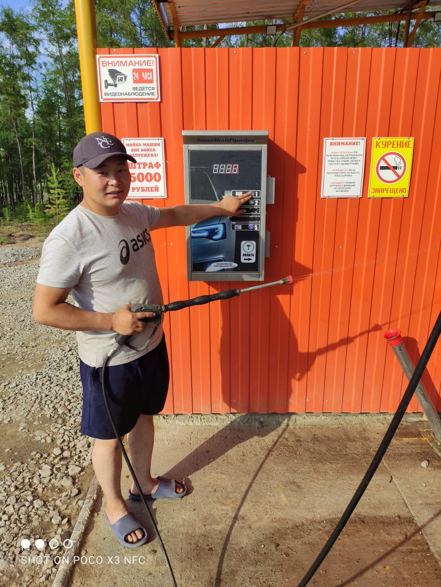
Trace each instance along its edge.
{"label": "man's sunlit bare leg nearer the gravel, with toes in sandal", "polygon": [[[110,524],[115,524],[129,513],[121,494],[122,454],[116,438],[100,440],[97,438],[92,450],[92,464],[98,483],[106,499],[106,515]],[[127,542],[137,542],[143,538],[141,528],[124,537]]]}

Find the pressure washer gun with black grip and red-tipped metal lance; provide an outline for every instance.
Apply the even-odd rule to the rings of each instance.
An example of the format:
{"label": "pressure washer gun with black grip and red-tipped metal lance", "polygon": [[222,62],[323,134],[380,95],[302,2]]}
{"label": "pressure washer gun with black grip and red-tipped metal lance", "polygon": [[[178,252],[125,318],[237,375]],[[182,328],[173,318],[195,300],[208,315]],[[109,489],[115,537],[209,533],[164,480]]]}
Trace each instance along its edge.
{"label": "pressure washer gun with black grip and red-tipped metal lance", "polygon": [[270,288],[273,285],[285,285],[285,284],[292,284],[294,279],[292,279],[292,275],[288,275],[288,277],[284,277],[283,279],[279,279],[279,281],[272,281],[269,284],[261,284],[261,285],[254,285],[251,288],[244,288],[244,289],[225,289],[223,292],[218,292],[218,294],[208,294],[208,295],[200,295],[197,298],[185,299],[180,300],[177,302],[166,303],[164,305],[159,305],[157,303],[135,303],[132,308],[130,308],[130,312],[154,312],[154,316],[150,316],[149,318],[143,318],[143,322],[152,322],[154,325],[153,332],[150,334],[149,339],[147,342],[139,349],[135,349],[133,346],[129,345],[129,340],[132,336],[126,336],[119,334],[115,337],[115,343],[112,346],[112,349],[109,352],[115,352],[115,350],[119,349],[120,346],[126,345],[129,348],[134,350],[144,350],[149,346],[150,341],[152,340],[154,333],[159,328],[161,324],[161,315],[163,312],[174,312],[176,310],[181,310],[183,308],[189,308],[190,306],[201,306],[204,303],[214,302],[217,299],[228,299],[234,298],[237,295],[243,294],[244,292],[251,292],[255,289],[263,289],[263,288]]}

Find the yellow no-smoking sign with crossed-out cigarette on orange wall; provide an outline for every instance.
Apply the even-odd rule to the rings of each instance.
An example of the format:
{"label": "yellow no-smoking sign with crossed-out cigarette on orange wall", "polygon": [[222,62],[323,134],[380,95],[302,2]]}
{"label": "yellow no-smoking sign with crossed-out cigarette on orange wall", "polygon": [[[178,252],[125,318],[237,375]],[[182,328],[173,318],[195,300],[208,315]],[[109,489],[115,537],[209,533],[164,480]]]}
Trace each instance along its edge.
{"label": "yellow no-smoking sign with crossed-out cigarette on orange wall", "polygon": [[413,139],[372,139],[369,198],[408,198]]}

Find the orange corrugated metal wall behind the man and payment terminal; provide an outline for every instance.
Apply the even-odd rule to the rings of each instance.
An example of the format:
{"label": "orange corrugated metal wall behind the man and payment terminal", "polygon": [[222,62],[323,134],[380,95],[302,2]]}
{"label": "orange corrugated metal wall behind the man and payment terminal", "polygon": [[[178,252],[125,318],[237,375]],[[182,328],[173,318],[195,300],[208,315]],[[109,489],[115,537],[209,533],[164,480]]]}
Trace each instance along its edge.
{"label": "orange corrugated metal wall behind the man and payment terminal", "polygon": [[[103,129],[164,137],[167,194],[184,202],[182,130],[268,130],[275,204],[265,281],[166,315],[166,413],[393,412],[441,309],[441,49],[99,49],[159,53],[160,103],[103,103]],[[321,199],[324,137],[367,139],[363,197]],[[415,137],[410,197],[368,199],[372,137]],[[187,282],[184,228],[154,232],[166,302],[243,282]],[[255,285],[255,284],[248,284]],[[441,410],[441,349],[423,378]],[[420,411],[416,399],[410,411]]]}

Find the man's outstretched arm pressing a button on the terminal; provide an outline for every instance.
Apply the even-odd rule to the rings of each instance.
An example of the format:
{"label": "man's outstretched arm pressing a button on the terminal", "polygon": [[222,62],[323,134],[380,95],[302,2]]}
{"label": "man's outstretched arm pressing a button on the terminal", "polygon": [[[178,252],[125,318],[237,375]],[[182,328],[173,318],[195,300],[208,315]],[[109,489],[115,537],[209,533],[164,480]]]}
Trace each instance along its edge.
{"label": "man's outstretched arm pressing a button on the terminal", "polygon": [[221,202],[214,204],[187,204],[160,208],[161,214],[159,220],[153,228],[156,230],[157,228],[168,228],[171,226],[188,226],[213,216],[239,216],[246,211],[239,210],[239,208],[246,204],[250,198],[251,192],[248,191],[237,197],[227,195]]}

